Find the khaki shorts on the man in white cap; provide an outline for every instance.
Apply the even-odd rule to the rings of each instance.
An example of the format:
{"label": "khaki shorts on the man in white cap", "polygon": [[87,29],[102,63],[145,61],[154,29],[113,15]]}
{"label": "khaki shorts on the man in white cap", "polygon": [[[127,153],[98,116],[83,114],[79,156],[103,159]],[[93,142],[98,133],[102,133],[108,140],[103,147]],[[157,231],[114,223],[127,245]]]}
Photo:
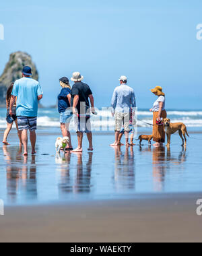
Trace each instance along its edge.
{"label": "khaki shorts on the man in white cap", "polygon": [[124,127],[124,130],[127,132],[131,131],[130,113],[115,114],[115,131],[121,131],[122,127]]}

